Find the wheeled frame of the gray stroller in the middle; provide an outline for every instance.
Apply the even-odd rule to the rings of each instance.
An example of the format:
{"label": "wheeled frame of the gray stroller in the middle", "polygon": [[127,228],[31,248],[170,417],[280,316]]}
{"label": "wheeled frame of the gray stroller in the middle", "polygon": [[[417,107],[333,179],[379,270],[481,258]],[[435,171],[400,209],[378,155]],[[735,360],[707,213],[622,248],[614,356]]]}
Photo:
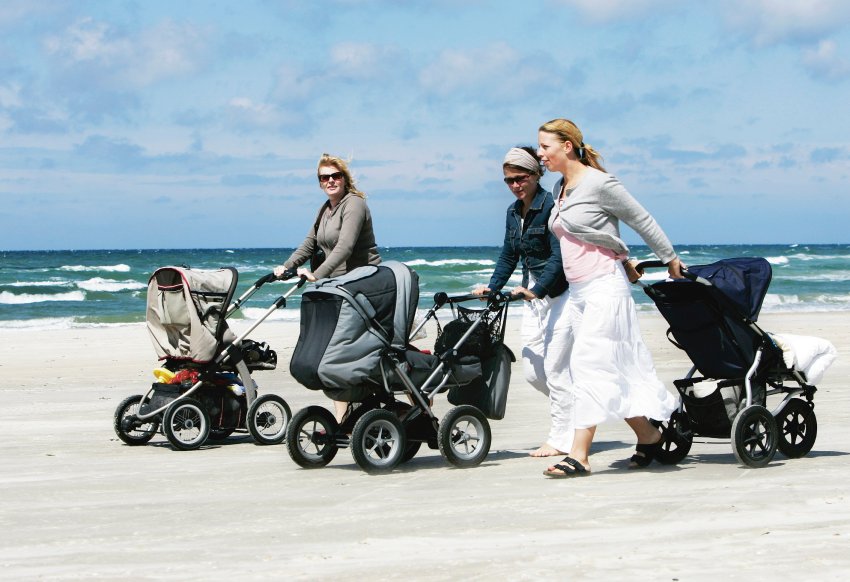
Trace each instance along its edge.
{"label": "wheeled frame of the gray stroller in the middle", "polygon": [[[485,298],[471,294],[437,293],[433,307],[408,337],[415,337],[431,319],[439,327],[436,314],[445,305],[451,306],[456,315],[460,303],[482,299]],[[421,383],[413,377],[415,370],[411,368],[411,359],[415,364],[417,354],[423,352],[410,349],[409,344],[405,349],[388,344],[381,350],[379,361],[382,389],[361,402],[350,404],[341,422],[321,406],[309,406],[296,413],[287,430],[290,457],[301,467],[320,468],[330,463],[339,449],[348,447],[361,469],[372,474],[386,473],[412,459],[424,443],[431,449],[439,449],[456,467],[479,465],[489,453],[492,441],[485,412],[472,404],[459,404],[440,420],[434,413],[433,400],[457,386],[453,381],[455,366],[463,362],[461,351],[469,339],[479,333],[480,326],[488,326],[488,333],[490,326],[498,328],[493,338],[496,342],[493,358],[507,362],[507,372],[503,368],[501,373],[507,373],[509,379],[510,362],[515,361],[515,357],[503,340],[507,306],[517,298],[492,294],[486,299],[486,307],[476,310],[478,317],[449,349],[437,356],[436,362],[434,356],[423,356],[433,369],[429,366],[430,371]],[[373,331],[385,333],[373,319],[369,321]],[[460,386],[459,390],[464,388]],[[405,395],[409,403],[397,399],[399,394]]]}

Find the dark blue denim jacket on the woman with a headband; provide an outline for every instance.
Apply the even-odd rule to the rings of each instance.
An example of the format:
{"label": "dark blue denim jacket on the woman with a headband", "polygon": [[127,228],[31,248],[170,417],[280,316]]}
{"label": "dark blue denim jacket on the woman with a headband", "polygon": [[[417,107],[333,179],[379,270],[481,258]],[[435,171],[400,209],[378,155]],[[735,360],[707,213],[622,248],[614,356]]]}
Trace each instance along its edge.
{"label": "dark blue denim jacket on the woman with a headband", "polygon": [[538,186],[525,221],[521,214],[522,201],[508,206],[505,242],[490,278],[490,289],[500,291],[521,262],[522,286],[528,288],[531,273],[534,287],[529,290],[538,297],[557,297],[566,290],[561,245],[547,225],[554,205],[552,194]]}

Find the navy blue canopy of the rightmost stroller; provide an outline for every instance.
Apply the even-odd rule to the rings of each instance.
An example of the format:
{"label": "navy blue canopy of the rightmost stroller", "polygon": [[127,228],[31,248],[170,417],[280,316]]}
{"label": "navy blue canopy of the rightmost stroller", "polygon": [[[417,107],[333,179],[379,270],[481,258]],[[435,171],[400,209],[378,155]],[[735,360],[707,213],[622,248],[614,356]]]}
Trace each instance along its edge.
{"label": "navy blue canopy of the rightmost stroller", "polygon": [[688,271],[707,279],[743,315],[753,321],[758,319],[772,277],[767,260],[759,257],[723,259],[710,265],[688,267]]}

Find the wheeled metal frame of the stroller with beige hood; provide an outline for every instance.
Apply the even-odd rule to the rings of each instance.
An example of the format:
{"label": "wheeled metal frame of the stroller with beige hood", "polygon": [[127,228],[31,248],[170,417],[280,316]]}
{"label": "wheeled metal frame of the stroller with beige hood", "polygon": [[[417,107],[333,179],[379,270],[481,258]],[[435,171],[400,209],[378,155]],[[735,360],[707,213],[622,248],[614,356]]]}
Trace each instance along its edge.
{"label": "wheeled metal frame of the stroller with beige hood", "polygon": [[[157,269],[151,280],[159,271],[174,269],[163,267]],[[286,426],[292,417],[289,405],[275,394],[258,395],[258,386],[251,376],[252,366],[246,358],[249,348],[244,343],[251,333],[256,330],[276,310],[286,306],[286,299],[300,288],[305,279],[302,277],[285,294],[278,297],[273,304],[243,333],[227,340],[225,345],[224,321],[232,316],[248,299],[250,299],[264,284],[277,278],[270,273],[257,280],[236,301],[230,303],[236,288],[238,273],[232,267],[223,269],[233,275],[232,284],[225,294],[222,303],[227,305],[224,313],[219,306],[211,305],[204,313],[199,314],[201,320],[211,316],[220,317],[216,326],[217,355],[213,360],[197,364],[182,359],[164,358],[165,369],[176,367],[176,371],[194,370],[197,372],[195,381],[181,384],[163,384],[155,382],[143,395],[133,395],[124,399],[117,407],[114,418],[114,429],[118,437],[126,444],[138,446],[148,443],[157,432],[162,432],[168,441],[179,450],[193,450],[201,447],[210,440],[221,441],[233,432],[246,430],[254,440],[263,445],[278,444],[286,436]],[[184,282],[185,284],[185,282]],[[232,333],[230,333],[232,335]],[[261,366],[255,369],[268,369]],[[235,372],[235,374],[234,374]],[[226,393],[223,386],[237,387],[237,392],[228,394],[227,398],[238,402],[239,411],[235,422],[225,421],[224,410],[221,411],[219,422],[210,418],[209,411],[196,395],[204,390],[219,387],[219,393]],[[222,408],[225,396],[222,395]],[[232,412],[232,411],[231,411]]]}

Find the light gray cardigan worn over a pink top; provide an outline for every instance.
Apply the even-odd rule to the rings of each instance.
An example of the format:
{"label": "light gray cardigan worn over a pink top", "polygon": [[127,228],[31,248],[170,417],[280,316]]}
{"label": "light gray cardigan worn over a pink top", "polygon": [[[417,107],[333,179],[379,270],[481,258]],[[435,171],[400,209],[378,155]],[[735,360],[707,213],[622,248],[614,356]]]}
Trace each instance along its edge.
{"label": "light gray cardigan worn over a pink top", "polygon": [[[558,180],[553,189],[556,200],[563,181],[563,178]],[[558,214],[567,232],[577,239],[611,249],[618,255],[628,255],[629,247],[620,238],[622,220],[663,262],[676,258],[670,239],[655,219],[611,174],[588,166],[581,182],[566,194],[566,208]],[[557,202],[555,208],[559,208]]]}

